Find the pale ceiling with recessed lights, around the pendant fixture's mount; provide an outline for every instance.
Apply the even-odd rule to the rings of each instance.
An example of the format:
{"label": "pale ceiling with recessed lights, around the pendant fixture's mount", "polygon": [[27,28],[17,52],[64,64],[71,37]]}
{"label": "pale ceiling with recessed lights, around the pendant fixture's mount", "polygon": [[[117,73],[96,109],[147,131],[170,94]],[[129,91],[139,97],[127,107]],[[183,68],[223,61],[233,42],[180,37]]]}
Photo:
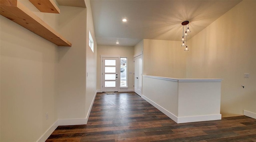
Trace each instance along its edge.
{"label": "pale ceiling with recessed lights, around the pendant fixture's mount", "polygon": [[[59,1],[74,4],[81,0]],[[180,41],[181,23],[186,20],[190,22],[189,39],[239,2],[241,0],[90,0],[97,44],[119,42],[119,46],[134,46],[142,39]],[[123,18],[127,22],[122,22]]]}

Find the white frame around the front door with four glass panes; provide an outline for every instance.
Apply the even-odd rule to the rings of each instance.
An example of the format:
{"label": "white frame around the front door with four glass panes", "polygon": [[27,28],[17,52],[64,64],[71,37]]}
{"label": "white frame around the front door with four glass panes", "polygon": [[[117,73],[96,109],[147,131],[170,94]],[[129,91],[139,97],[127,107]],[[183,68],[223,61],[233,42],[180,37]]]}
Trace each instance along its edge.
{"label": "white frame around the front door with four glass panes", "polygon": [[118,91],[120,89],[120,68],[119,68],[119,64],[120,64],[120,55],[100,55],[100,92],[102,92],[102,88],[103,88],[103,84],[102,84],[102,61],[103,61],[103,58],[118,58]]}

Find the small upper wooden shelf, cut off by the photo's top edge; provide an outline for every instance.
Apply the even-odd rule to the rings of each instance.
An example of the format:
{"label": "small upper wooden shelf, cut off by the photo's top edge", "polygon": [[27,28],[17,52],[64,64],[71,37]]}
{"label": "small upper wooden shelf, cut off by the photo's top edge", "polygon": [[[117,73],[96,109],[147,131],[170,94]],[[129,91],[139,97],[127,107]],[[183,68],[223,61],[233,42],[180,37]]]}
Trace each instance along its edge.
{"label": "small upper wooden shelf, cut off by the photo's top edge", "polygon": [[29,0],[40,12],[60,13],[60,9],[52,0]]}

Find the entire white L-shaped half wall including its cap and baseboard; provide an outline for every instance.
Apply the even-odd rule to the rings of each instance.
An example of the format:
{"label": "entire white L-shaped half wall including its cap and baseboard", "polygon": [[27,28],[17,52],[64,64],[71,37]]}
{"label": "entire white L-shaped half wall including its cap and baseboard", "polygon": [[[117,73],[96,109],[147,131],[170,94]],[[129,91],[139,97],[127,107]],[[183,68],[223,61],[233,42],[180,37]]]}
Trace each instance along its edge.
{"label": "entire white L-shaped half wall including its cap and baseboard", "polygon": [[143,76],[142,98],[176,123],[220,120],[218,79]]}

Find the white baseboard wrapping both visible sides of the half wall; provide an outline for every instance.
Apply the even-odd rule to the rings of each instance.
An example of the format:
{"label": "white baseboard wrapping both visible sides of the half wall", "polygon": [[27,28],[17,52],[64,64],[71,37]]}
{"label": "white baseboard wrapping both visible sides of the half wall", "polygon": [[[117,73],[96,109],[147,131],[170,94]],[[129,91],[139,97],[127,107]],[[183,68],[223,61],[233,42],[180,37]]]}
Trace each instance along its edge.
{"label": "white baseboard wrapping both visible sides of the half wall", "polygon": [[199,116],[188,116],[188,117],[177,117],[176,115],[170,113],[154,101],[148,99],[146,96],[142,95],[142,98],[145,99],[148,103],[159,109],[162,113],[170,117],[176,123],[189,123],[189,122],[198,122],[198,121],[212,121],[212,120],[220,120],[221,114],[214,115],[199,115]]}

